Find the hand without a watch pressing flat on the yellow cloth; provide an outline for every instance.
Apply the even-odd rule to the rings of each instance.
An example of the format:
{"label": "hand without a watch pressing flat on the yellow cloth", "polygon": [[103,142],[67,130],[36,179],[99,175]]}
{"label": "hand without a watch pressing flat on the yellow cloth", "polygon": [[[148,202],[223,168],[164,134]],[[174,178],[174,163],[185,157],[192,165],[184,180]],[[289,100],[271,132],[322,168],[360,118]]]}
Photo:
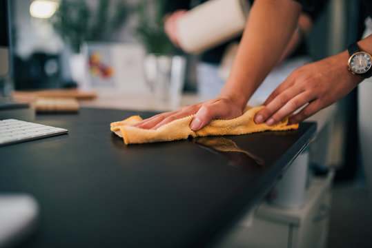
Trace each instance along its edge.
{"label": "hand without a watch pressing flat on the yellow cloth", "polygon": [[236,118],[237,116],[242,115],[242,109],[229,99],[217,98],[204,103],[179,107],[178,110],[173,112],[157,114],[133,126],[156,130],[158,127],[165,125],[166,123],[190,116],[191,114],[195,114],[195,116],[193,121],[190,122],[190,128],[191,130],[197,131],[208,125],[208,123],[213,119],[218,118],[226,120]]}

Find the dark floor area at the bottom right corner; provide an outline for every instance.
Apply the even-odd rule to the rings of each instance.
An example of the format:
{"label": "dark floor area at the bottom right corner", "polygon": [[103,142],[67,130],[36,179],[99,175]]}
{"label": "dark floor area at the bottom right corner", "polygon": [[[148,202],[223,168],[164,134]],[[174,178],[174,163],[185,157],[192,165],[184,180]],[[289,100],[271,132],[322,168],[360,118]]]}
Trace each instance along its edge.
{"label": "dark floor area at the bottom right corner", "polygon": [[372,247],[372,197],[364,185],[333,183],[329,248]]}

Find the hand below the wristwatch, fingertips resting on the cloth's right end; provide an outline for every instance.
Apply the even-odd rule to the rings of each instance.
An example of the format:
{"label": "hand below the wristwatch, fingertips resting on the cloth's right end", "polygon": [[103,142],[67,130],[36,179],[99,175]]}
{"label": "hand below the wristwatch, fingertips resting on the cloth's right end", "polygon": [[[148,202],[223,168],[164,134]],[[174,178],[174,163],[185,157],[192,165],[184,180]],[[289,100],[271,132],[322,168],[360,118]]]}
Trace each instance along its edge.
{"label": "hand below the wristwatch, fingertips resting on the cloth's right end", "polygon": [[322,108],[342,99],[363,78],[348,71],[346,51],[298,68],[279,85],[264,102],[263,110],[255,116],[256,123],[266,121],[274,125],[301,107],[289,118],[289,123],[299,123]]}

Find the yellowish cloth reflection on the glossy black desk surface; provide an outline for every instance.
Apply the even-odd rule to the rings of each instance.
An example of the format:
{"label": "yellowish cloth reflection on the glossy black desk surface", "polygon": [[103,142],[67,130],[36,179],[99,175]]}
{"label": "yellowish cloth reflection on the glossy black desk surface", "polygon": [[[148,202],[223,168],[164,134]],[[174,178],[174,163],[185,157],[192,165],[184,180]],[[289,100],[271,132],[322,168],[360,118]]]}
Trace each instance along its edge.
{"label": "yellowish cloth reflection on the glossy black desk surface", "polygon": [[238,169],[244,169],[251,167],[252,165],[263,166],[265,164],[264,159],[255,156],[252,152],[248,152],[241,149],[234,141],[230,138],[224,138],[222,136],[209,136],[194,138],[193,141],[202,147],[212,149],[213,152],[221,154],[227,159],[228,165]]}

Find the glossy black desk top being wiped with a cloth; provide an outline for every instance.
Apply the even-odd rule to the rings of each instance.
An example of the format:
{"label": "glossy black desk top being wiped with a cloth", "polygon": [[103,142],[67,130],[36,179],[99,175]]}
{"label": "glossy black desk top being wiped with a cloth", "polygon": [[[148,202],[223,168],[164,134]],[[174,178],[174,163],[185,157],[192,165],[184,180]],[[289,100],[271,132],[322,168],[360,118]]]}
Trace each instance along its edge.
{"label": "glossy black desk top being wiped with a cloth", "polygon": [[40,206],[37,233],[22,247],[213,245],[264,197],[316,126],[224,137],[253,159],[193,139],[127,147],[110,122],[138,112],[81,109],[31,120],[17,111],[25,110],[0,112],[0,119],[25,116],[69,130],[0,147],[0,192],[26,192]]}

